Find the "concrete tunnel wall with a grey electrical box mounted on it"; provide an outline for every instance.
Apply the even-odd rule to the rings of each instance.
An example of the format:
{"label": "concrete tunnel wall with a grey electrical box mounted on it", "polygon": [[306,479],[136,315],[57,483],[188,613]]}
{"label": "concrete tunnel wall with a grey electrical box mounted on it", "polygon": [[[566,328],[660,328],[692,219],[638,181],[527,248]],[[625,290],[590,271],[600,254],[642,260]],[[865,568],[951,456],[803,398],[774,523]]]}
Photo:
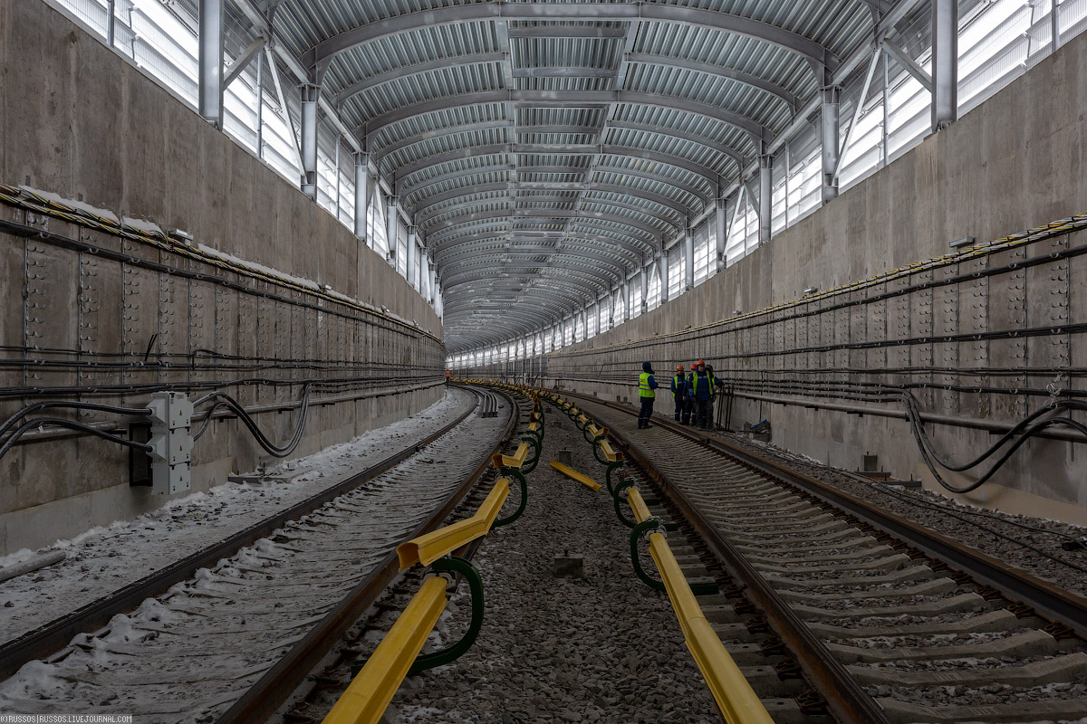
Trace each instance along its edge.
{"label": "concrete tunnel wall with a grey electrical box mounted on it", "polygon": [[[43,2],[0,3],[0,183],[184,229],[195,243],[318,285],[272,283],[224,270],[208,255],[157,249],[2,203],[4,219],[205,278],[195,281],[0,232],[0,386],[199,383],[240,372],[222,360],[199,366],[198,350],[253,357],[268,368],[246,373],[279,383],[235,385],[228,392],[247,406],[263,406],[257,423],[273,441],[283,441],[297,417],[285,406],[301,394],[300,384],[283,380],[349,376],[352,366],[370,369],[364,383],[325,395],[336,401],[311,408],[291,457],[402,419],[442,395],[440,320],[384,258]],[[217,283],[223,281],[246,289]],[[384,305],[401,319],[322,297],[325,285]],[[160,364],[124,370],[24,364],[130,363],[146,355]],[[317,360],[322,367],[297,371],[276,366],[277,358]],[[393,383],[404,374],[415,383]],[[147,394],[84,398],[139,406]],[[30,401],[0,398],[0,419]],[[193,449],[192,491],[267,461],[240,422],[215,422]],[[128,454],[113,443],[80,436],[20,445],[0,460],[0,555],[132,518],[164,501],[147,488],[129,487]]]}

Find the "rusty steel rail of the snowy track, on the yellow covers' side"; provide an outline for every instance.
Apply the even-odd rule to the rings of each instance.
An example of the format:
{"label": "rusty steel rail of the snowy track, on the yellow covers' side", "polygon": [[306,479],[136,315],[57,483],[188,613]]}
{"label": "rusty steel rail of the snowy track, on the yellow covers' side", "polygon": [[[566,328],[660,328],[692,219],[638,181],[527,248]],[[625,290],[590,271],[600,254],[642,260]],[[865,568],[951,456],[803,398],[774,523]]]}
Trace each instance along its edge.
{"label": "rusty steel rail of the snowy track, on the yellow covers' side", "polygon": [[[472,392],[479,397],[479,404],[482,405],[484,401],[482,392],[475,390],[472,390]],[[502,444],[516,430],[521,417],[517,405],[510,395],[505,393],[499,394],[510,403],[510,419],[507,422],[501,439],[486,457],[483,458],[483,461],[472,474],[446,498],[445,503],[429,518],[416,526],[410,534],[409,539],[418,537],[441,525],[442,521],[453,511],[461,499],[487,471],[490,466],[491,455],[498,453]],[[461,419],[463,420],[464,418]],[[460,420],[457,422],[460,422]],[[310,675],[310,672],[313,671],[321,660],[328,655],[328,651],[340,640],[343,633],[377,600],[377,597],[382,595],[382,592],[392,583],[399,573],[400,559],[393,549],[377,564],[370,575],[351,589],[336,608],[329,611],[300,642],[295,644],[240,699],[235,701],[218,717],[217,724],[252,724],[252,722],[266,721],[290,697],[305,677]]]}

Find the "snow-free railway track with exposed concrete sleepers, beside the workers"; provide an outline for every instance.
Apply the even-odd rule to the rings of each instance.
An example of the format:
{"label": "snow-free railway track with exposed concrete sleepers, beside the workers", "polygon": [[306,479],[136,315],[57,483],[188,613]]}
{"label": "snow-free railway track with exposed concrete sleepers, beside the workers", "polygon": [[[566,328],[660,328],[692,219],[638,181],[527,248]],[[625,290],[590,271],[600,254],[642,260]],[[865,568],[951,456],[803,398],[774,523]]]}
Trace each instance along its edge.
{"label": "snow-free railway track with exposed concrete sleepers, beside the workers", "polygon": [[823,484],[721,441],[659,419],[639,431],[629,408],[575,397],[741,583],[839,722],[1087,716],[1087,602],[908,521],[839,508]]}

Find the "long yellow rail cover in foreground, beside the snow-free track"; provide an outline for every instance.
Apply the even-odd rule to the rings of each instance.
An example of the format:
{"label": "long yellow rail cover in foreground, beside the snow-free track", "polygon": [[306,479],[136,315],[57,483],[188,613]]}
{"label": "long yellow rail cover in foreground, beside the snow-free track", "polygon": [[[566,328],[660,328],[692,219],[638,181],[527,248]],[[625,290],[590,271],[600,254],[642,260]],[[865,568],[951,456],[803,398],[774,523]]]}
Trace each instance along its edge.
{"label": "long yellow rail cover in foreground, beside the snow-free track", "polygon": [[[636,487],[627,491],[626,500],[639,523],[650,517],[649,508]],[[672,600],[687,649],[702,672],[725,721],[728,724],[774,724],[751,684],[744,678],[740,668],[705,619],[663,533],[649,535],[649,554]]]}

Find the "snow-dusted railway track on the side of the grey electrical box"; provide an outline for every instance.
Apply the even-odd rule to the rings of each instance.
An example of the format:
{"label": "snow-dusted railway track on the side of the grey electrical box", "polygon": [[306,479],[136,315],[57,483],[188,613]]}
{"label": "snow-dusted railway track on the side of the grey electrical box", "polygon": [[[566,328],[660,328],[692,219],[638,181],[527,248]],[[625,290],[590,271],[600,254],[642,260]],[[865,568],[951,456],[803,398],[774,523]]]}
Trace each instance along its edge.
{"label": "snow-dusted railway track on the side of the grey electrical box", "polygon": [[514,429],[508,397],[485,419],[493,398],[476,396],[475,416],[353,477],[365,485],[329,488],[326,501],[30,661],[0,684],[0,711],[263,721],[395,577],[396,546],[439,525]]}

